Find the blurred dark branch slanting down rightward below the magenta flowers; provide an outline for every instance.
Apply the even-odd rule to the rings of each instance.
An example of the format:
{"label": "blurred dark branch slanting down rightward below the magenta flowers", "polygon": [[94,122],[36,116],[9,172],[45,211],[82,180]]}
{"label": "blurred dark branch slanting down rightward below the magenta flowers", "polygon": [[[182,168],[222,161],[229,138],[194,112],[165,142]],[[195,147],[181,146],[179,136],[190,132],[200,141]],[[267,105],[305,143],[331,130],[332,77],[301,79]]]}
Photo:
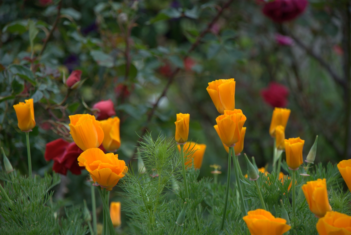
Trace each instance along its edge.
{"label": "blurred dark branch slanting down rightward below the magenta flowers", "polygon": [[322,65],[326,71],[328,71],[328,73],[332,76],[332,78],[334,79],[334,81],[336,83],[338,83],[340,86],[345,86],[345,81],[340,78],[340,76],[333,70],[332,67],[329,66],[329,63],[327,63],[320,55],[316,54],[312,48],[308,47],[305,45],[305,43],[303,43],[299,38],[297,38],[296,36],[292,35],[289,32],[286,32],[287,35],[289,35],[292,39],[294,39],[294,41],[296,42],[296,44],[301,47],[302,49],[304,49],[304,51],[309,54],[310,56],[312,56],[314,59],[316,59],[320,65]]}

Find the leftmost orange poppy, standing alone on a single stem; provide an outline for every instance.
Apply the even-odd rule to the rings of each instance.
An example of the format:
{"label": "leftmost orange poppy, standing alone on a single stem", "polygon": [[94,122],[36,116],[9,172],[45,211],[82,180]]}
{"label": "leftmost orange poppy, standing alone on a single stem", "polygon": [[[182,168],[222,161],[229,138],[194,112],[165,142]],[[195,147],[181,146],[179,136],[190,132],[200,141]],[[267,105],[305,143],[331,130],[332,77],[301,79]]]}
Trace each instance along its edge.
{"label": "leftmost orange poppy, standing alone on a single stem", "polygon": [[33,99],[25,100],[14,105],[18,120],[18,128],[22,132],[29,132],[35,127]]}

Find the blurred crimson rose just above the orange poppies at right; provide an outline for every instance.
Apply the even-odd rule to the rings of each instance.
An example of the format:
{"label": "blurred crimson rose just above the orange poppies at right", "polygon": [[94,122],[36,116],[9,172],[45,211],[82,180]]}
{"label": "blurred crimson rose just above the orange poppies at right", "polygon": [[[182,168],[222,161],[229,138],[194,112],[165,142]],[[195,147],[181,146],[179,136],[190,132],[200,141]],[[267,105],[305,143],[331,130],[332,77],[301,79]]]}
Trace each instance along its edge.
{"label": "blurred crimson rose just above the orange poppies at right", "polygon": [[271,82],[268,87],[261,90],[263,99],[272,107],[284,108],[287,105],[289,90],[277,82]]}

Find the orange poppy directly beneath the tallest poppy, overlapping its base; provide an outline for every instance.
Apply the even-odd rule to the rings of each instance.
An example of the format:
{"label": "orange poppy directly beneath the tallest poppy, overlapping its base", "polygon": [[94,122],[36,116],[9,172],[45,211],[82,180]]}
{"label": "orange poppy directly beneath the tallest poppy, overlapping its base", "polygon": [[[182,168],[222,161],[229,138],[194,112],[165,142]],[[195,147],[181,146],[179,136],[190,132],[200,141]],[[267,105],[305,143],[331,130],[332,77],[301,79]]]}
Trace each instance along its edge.
{"label": "orange poppy directly beneath the tallest poppy, overlapping its base", "polygon": [[224,114],[216,118],[219,137],[226,146],[232,146],[240,141],[245,121],[246,116],[241,109],[224,110]]}

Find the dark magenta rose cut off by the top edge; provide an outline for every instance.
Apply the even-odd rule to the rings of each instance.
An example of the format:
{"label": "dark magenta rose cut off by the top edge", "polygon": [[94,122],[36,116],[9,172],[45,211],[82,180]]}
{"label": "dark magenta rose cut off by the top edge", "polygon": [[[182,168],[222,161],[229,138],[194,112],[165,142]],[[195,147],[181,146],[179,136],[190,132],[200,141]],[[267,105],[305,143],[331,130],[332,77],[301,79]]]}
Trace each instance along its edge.
{"label": "dark magenta rose cut off by the top edge", "polygon": [[262,11],[273,21],[282,23],[295,19],[306,9],[307,0],[275,0],[267,2]]}

